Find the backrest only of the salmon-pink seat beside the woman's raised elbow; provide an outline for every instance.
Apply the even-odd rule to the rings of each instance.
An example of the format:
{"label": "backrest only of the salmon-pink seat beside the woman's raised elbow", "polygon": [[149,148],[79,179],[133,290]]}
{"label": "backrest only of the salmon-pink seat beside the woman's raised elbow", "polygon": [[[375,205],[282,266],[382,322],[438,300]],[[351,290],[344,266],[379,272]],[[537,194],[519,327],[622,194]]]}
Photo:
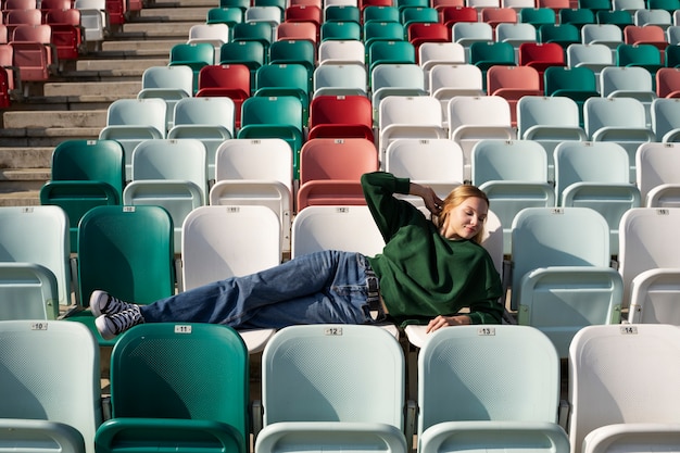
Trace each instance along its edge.
{"label": "backrest only of the salmon-pink seat beside the woman's raised elbow", "polygon": [[376,146],[363,138],[315,138],[300,151],[300,185],[319,179],[358,181],[379,167]]}

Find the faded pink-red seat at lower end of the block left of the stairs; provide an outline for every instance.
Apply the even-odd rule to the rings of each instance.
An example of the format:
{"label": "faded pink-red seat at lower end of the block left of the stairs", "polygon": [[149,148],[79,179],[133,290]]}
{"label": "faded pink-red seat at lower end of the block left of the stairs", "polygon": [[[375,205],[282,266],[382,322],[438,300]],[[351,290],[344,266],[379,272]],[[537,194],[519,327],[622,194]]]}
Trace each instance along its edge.
{"label": "faded pink-red seat at lower end of the block left of the stairs", "polygon": [[51,48],[52,27],[41,25],[17,25],[12,32],[10,45],[14,50],[14,66],[20,70],[22,80],[47,80],[58,61]]}

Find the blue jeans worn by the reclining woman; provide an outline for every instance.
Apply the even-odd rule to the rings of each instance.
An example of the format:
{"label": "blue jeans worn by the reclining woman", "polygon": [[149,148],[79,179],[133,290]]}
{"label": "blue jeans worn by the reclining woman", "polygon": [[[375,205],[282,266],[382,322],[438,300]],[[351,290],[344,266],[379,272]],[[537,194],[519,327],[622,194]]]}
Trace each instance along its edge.
{"label": "blue jeans worn by the reclining woman", "polygon": [[[326,250],[141,306],[147,323],[282,328],[297,324],[373,324],[366,257]],[[378,319],[379,320],[379,319]]]}

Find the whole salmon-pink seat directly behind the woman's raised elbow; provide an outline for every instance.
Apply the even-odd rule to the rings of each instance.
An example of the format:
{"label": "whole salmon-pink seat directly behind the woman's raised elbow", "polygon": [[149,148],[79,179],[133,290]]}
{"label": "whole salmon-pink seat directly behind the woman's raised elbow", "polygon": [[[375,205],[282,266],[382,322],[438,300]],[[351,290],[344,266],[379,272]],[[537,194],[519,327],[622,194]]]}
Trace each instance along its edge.
{"label": "whole salmon-pink seat directly behind the woman's raised elbow", "polygon": [[298,211],[310,204],[365,204],[361,176],[378,168],[378,151],[369,140],[307,140],[300,151]]}

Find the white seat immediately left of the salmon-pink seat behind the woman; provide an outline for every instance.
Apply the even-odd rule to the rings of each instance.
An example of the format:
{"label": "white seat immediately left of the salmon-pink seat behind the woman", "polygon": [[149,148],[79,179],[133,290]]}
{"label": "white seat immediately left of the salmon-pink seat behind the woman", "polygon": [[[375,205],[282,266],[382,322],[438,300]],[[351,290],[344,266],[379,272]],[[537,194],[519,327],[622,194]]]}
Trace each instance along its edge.
{"label": "white seat immediately left of the salmon-pink seat behind the woman", "polygon": [[290,252],[293,214],[292,152],[278,138],[227,140],[215,153],[211,205],[257,204],[272,209],[280,223],[281,248]]}

